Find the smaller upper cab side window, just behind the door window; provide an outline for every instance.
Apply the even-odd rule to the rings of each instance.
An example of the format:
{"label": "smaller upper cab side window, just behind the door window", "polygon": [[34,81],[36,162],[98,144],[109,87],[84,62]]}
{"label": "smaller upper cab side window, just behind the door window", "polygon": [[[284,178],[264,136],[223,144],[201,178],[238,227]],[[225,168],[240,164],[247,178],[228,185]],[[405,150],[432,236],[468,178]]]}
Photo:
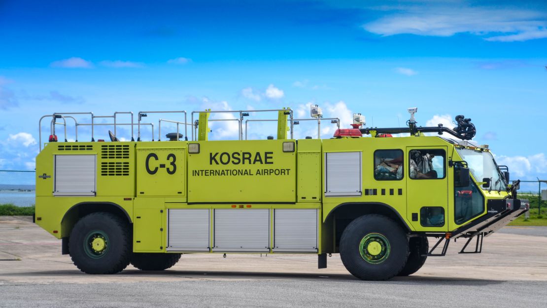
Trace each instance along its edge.
{"label": "smaller upper cab side window, just behind the door window", "polygon": [[403,179],[403,161],[402,150],[376,150],[374,152],[374,179]]}

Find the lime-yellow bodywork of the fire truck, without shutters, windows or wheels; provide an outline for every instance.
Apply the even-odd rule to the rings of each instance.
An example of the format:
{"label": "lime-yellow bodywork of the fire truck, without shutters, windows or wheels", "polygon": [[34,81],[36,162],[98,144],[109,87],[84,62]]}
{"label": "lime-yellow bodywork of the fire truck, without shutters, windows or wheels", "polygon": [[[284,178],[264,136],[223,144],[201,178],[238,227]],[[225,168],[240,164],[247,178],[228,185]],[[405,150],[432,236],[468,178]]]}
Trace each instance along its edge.
{"label": "lime-yellow bodywork of the fire truck, without shutters, windows or wheels", "polygon": [[[201,113],[200,122],[206,122],[206,116]],[[206,132],[202,133],[200,139],[206,139]],[[106,204],[121,209],[129,217],[135,252],[166,252],[168,209],[263,208],[274,213],[274,209],[316,208],[319,209],[316,253],[330,253],[336,252],[333,213],[343,204],[354,204],[359,209],[377,204],[388,206],[411,232],[450,232],[486,213],[485,207],[484,213],[461,225],[454,222],[454,175],[453,168],[447,165],[444,179],[409,178],[408,159],[412,149],[443,149],[445,163],[461,160],[453,144],[436,136],[191,142],[199,144],[199,153],[188,153],[187,141],[46,145],[36,159],[37,224],[57,238],[68,237],[79,217],[79,211],[71,210],[73,207],[82,203]],[[290,146],[289,151],[283,151],[283,142],[293,142],[294,151],[290,151]],[[376,180],[374,152],[393,149],[404,153],[403,179]],[[339,152],[360,153],[360,195],[325,196],[325,153]],[[56,155],[96,155],[95,196],[53,195]],[[485,203],[489,198],[507,196],[506,192],[480,190],[480,193]],[[423,206],[444,208],[445,224],[422,226],[419,215]],[[418,220],[414,219],[416,213]],[[211,242],[213,223],[211,218]],[[272,241],[270,238],[270,247]]]}

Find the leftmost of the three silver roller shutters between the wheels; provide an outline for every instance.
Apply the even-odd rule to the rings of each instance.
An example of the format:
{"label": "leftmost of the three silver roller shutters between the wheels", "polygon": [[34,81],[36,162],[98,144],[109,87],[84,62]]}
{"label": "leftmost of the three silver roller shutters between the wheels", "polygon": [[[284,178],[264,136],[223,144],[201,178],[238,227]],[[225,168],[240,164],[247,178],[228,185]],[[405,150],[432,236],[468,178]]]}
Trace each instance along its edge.
{"label": "leftmost of the three silver roller shutters between the wheels", "polygon": [[167,250],[209,251],[209,209],[169,209]]}

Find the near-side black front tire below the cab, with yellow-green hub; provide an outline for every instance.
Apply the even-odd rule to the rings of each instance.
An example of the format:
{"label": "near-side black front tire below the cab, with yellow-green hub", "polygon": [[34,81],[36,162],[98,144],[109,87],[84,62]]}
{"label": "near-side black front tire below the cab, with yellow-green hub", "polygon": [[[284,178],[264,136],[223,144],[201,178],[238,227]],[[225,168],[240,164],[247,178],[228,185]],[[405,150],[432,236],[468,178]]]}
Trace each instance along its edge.
{"label": "near-side black front tire below the cab, with yellow-green hub", "polygon": [[[381,252],[374,255],[374,251],[369,250],[373,246],[380,247]],[[369,214],[354,219],[340,238],[342,263],[353,276],[362,280],[392,278],[405,266],[408,253],[404,230],[383,215]]]}

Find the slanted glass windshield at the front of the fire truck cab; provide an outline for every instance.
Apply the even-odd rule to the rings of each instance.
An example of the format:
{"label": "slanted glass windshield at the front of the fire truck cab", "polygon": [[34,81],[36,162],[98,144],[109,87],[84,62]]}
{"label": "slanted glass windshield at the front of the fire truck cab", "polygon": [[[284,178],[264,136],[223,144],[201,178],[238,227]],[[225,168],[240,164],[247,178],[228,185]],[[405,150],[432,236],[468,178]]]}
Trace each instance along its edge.
{"label": "slanted glass windshield at the front of the fire truck cab", "polygon": [[482,190],[505,190],[507,183],[498,169],[496,161],[490,152],[475,151],[471,149],[458,149],[459,156],[467,162],[476,181],[482,182],[484,178],[490,179],[490,186],[480,187]]}

